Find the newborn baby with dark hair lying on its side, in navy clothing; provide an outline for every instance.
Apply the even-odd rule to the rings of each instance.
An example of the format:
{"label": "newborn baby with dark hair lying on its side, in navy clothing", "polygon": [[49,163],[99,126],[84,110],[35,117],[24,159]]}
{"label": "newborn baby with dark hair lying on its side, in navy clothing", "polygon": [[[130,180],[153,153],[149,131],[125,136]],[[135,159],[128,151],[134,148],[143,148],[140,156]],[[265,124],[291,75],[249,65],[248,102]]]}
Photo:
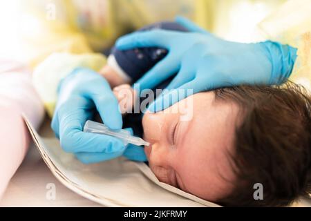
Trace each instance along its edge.
{"label": "newborn baby with dark hair lying on its side, in navy clothing", "polygon": [[[151,28],[187,31],[176,23],[144,29]],[[165,55],[162,48],[114,48],[100,73],[120,102],[127,90],[133,104],[138,92],[122,84],[134,83]],[[128,114],[124,127],[150,142],[144,150],[160,182],[224,206],[285,206],[310,193],[311,100],[305,94],[295,84],[221,88],[158,113]],[[180,105],[191,119],[182,120]],[[263,197],[255,198],[258,184]]]}

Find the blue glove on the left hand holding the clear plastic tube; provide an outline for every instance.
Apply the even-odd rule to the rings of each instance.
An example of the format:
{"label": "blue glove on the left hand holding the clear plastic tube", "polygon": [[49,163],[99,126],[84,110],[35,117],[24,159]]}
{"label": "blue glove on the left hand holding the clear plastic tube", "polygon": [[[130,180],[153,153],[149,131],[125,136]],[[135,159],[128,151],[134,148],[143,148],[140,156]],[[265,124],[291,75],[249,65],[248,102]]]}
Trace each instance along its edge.
{"label": "blue glove on the left hand holding the clear plastic tube", "polygon": [[[109,83],[93,70],[77,68],[59,84],[52,120],[53,131],[64,151],[75,153],[85,163],[111,160],[123,154],[130,160],[145,160],[143,148],[133,150],[115,137],[82,132],[86,120],[92,119],[96,110],[106,126],[122,128],[122,115]],[[131,154],[131,150],[140,153]]]}

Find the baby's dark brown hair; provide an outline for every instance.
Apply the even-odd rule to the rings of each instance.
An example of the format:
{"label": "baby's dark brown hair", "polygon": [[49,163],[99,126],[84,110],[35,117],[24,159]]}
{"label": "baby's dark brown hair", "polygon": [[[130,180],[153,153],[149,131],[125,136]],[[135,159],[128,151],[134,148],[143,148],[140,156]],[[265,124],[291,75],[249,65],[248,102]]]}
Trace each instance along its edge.
{"label": "baby's dark brown hair", "polygon": [[[288,206],[311,193],[311,99],[292,82],[215,90],[216,100],[238,104],[240,114],[229,155],[236,173],[223,206]],[[254,199],[262,184],[263,200]]]}

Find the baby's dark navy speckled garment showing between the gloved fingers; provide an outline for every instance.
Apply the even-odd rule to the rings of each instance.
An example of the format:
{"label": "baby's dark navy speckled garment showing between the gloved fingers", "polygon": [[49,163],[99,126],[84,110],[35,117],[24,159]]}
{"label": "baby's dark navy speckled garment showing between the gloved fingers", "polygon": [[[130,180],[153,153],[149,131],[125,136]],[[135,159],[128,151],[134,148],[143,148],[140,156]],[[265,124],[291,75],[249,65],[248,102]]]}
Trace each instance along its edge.
{"label": "baby's dark navy speckled garment showing between the gloved fingers", "polygon": [[[176,22],[160,22],[151,26],[146,26],[138,31],[164,29],[164,30],[176,30],[181,32],[187,32],[188,30]],[[167,50],[164,48],[135,48],[134,50],[117,50],[113,48],[111,54],[115,56],[117,64],[124,70],[124,73],[129,75],[132,79],[132,83],[135,83],[140,77],[142,77],[148,70],[153,68],[167,55]],[[173,79],[172,76],[169,79],[160,83],[156,89],[164,89]],[[123,119],[124,128],[133,128],[135,135],[142,137],[142,113],[127,114]]]}

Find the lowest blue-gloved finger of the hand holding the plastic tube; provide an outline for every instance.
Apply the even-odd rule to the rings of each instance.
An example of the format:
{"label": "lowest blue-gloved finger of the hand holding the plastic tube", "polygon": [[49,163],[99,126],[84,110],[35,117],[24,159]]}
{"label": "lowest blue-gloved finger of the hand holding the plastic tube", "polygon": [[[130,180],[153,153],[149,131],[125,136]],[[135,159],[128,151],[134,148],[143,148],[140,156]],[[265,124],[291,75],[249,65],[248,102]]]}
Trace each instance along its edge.
{"label": "lowest blue-gloved finger of the hand holding the plastic tube", "polygon": [[75,153],[75,157],[84,164],[95,164],[107,160],[113,160],[122,155],[123,151],[115,153]]}

